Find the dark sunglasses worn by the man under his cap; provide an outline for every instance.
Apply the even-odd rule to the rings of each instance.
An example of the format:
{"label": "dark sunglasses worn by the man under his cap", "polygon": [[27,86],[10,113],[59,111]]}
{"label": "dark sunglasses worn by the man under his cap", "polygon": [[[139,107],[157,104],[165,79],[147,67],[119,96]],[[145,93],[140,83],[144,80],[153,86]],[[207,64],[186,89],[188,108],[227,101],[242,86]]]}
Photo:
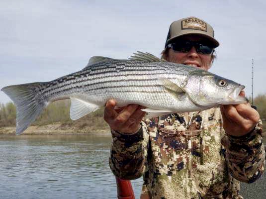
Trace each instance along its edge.
{"label": "dark sunglasses worn by the man under his cap", "polygon": [[212,46],[194,41],[180,41],[178,43],[170,43],[167,45],[168,48],[172,48],[175,52],[181,53],[189,52],[193,46],[199,54],[209,55],[214,51]]}

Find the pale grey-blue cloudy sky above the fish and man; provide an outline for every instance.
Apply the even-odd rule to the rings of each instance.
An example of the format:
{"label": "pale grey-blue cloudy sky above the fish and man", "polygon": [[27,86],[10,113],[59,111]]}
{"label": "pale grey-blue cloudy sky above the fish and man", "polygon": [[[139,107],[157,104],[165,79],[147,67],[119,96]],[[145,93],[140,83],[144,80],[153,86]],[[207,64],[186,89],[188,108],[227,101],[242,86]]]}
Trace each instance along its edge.
{"label": "pale grey-blue cloudy sky above the fish and man", "polygon": [[[90,57],[158,57],[170,24],[199,17],[220,42],[210,72],[266,94],[265,0],[1,0],[0,89],[47,82],[83,69]],[[0,103],[10,99],[0,92]]]}

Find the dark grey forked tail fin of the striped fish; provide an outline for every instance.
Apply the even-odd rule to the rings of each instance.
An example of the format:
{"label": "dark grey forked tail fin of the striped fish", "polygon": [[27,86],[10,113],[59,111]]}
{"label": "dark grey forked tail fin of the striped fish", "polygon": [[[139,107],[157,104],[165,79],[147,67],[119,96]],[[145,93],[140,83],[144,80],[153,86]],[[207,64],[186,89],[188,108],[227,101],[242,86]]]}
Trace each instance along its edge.
{"label": "dark grey forked tail fin of the striped fish", "polygon": [[16,135],[21,134],[48,105],[40,93],[44,83],[12,85],[1,89],[16,106]]}

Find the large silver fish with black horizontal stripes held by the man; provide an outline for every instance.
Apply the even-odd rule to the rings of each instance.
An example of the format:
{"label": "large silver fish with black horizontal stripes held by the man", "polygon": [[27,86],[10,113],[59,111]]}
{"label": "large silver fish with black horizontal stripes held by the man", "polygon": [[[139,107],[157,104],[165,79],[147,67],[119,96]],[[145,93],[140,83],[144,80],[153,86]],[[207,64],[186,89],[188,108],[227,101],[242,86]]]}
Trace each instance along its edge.
{"label": "large silver fish with black horizontal stripes held by the man", "polygon": [[114,99],[117,106],[139,104],[146,117],[246,103],[245,86],[208,71],[138,51],[129,59],[94,56],[75,73],[49,82],[1,89],[16,106],[16,134],[21,134],[51,102],[71,100],[77,120]]}

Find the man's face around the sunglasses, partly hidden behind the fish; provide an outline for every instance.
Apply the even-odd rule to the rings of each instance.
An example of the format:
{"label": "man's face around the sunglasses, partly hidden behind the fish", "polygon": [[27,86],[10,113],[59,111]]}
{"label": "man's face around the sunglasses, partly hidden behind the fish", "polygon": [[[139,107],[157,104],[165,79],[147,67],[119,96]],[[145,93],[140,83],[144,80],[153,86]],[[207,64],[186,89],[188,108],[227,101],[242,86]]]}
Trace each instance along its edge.
{"label": "man's face around the sunglasses, partly hidden behind the fish", "polygon": [[[183,36],[182,40],[200,42],[203,41],[203,38],[197,35],[187,35]],[[206,55],[197,53],[194,46],[186,53],[175,52],[172,48],[170,48],[168,51],[167,61],[198,67],[207,71],[211,67],[212,54]]]}

